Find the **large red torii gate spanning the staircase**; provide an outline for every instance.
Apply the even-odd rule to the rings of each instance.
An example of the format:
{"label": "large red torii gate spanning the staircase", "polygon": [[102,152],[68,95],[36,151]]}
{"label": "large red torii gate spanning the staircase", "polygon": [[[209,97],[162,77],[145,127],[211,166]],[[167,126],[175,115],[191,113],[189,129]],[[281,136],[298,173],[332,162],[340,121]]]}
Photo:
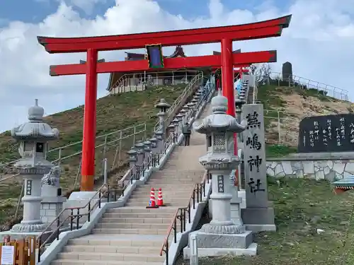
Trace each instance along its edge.
{"label": "large red torii gate spanning the staircase", "polygon": [[[221,42],[221,55],[166,58],[164,69],[187,69],[222,66],[223,94],[228,99],[227,113],[235,116],[234,64],[276,61],[276,51],[232,54],[232,42],[266,37],[279,37],[289,26],[291,15],[258,23],[158,33],[137,33],[100,37],[38,37],[38,42],[51,54],[87,52],[86,64],[50,66],[51,76],[86,74],[84,133],[82,143],[81,191],[93,191],[95,173],[97,73],[149,71],[149,61],[99,62],[98,52],[117,49],[139,49],[146,45],[195,45]],[[156,71],[156,69],[154,69]]]}

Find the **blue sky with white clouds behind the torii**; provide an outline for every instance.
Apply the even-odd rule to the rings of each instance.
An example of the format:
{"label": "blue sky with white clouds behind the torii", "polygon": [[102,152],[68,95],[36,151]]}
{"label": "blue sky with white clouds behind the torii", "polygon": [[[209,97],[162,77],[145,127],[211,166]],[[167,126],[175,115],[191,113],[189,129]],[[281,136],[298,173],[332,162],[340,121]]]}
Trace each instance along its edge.
{"label": "blue sky with white clouds behind the torii", "polygon": [[[0,131],[27,121],[35,98],[52,114],[84,104],[85,76],[49,76],[51,64],[73,64],[84,53],[48,54],[37,36],[80,37],[237,25],[292,14],[281,37],[234,42],[243,52],[277,49],[279,72],[293,73],[349,91],[354,99],[353,0],[0,0]],[[164,53],[174,47],[164,48]],[[219,51],[220,45],[183,47],[187,56]],[[125,51],[100,52],[106,61]],[[131,51],[131,52],[144,52]],[[98,97],[108,74],[98,76]]]}

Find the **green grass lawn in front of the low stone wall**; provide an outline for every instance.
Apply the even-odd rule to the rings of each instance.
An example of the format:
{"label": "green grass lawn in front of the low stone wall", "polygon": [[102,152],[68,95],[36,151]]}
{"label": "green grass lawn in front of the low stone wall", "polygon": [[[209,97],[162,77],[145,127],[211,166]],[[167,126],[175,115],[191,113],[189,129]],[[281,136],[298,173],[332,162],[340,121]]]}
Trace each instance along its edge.
{"label": "green grass lawn in front of the low stone wall", "polygon": [[[256,233],[257,256],[200,259],[200,265],[353,264],[353,192],[335,195],[329,182],[312,179],[283,178],[278,184],[270,178],[268,185],[278,231]],[[176,265],[188,262],[179,257]]]}

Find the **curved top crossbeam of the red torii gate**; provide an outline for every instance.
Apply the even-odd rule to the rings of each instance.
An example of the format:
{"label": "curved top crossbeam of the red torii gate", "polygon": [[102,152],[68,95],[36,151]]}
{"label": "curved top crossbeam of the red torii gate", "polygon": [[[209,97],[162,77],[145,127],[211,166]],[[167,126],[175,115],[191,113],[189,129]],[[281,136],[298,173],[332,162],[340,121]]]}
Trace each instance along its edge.
{"label": "curved top crossbeam of the red torii gate", "polygon": [[231,25],[190,30],[171,30],[159,33],[135,33],[99,37],[38,37],[38,42],[51,54],[87,52],[88,49],[108,51],[115,49],[139,49],[147,43],[162,46],[195,45],[220,42],[222,39],[254,40],[278,37],[283,28],[288,28],[291,15],[257,23]]}

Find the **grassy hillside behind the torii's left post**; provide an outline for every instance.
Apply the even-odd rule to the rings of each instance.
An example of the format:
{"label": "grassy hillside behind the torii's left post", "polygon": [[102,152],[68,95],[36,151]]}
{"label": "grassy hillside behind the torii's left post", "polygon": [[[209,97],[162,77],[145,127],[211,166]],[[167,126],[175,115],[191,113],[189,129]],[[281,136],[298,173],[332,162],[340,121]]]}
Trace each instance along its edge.
{"label": "grassy hillside behind the torii's left post", "polygon": [[[154,105],[164,98],[166,102],[172,104],[185,85],[181,86],[158,86],[145,90],[143,92],[129,92],[118,95],[111,95],[97,100],[97,136],[108,134],[119,129],[125,129],[128,126],[146,123],[146,136],[151,136],[154,124],[157,122],[157,110]],[[64,146],[69,143],[76,143],[82,139],[84,106],[76,107],[72,110],[59,112],[51,116],[45,117],[45,122],[50,126],[59,129],[60,138],[58,141],[50,143],[50,148]],[[144,126],[139,126],[139,130],[143,130]],[[125,134],[132,133],[132,129]],[[123,133],[122,136],[124,137]],[[116,139],[119,135],[113,134],[108,140]],[[144,133],[139,134],[137,139],[142,139]],[[103,143],[104,138],[98,143]],[[118,164],[124,166],[126,162],[125,150],[132,145],[132,137],[122,142],[122,157]],[[112,163],[117,143],[109,146],[106,150],[108,164]],[[0,160],[4,163],[19,158],[17,144],[11,138],[10,132],[6,131],[0,134]],[[81,143],[69,146],[63,149],[62,157],[72,155],[81,151]],[[53,151],[49,155],[50,160],[58,158],[58,151]],[[101,161],[103,158],[103,148],[96,149],[96,172],[100,173]],[[73,188],[76,174],[79,169],[80,156],[74,155],[72,158],[63,160],[61,167],[63,174],[60,183],[64,192]],[[17,177],[0,182],[0,224],[13,215],[14,207],[17,204],[18,196],[21,192],[21,181]]]}

